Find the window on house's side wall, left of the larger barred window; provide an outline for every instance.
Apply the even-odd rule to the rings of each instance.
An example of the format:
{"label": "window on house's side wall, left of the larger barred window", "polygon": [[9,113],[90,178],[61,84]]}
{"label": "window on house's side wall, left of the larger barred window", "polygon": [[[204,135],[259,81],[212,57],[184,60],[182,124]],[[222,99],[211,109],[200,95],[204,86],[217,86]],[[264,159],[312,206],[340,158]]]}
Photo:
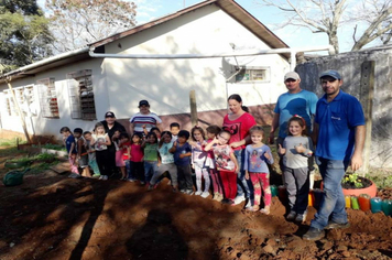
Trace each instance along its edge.
{"label": "window on house's side wall, left of the larger barred window", "polygon": [[57,94],[54,78],[44,78],[36,82],[39,88],[41,113],[44,118],[59,118]]}

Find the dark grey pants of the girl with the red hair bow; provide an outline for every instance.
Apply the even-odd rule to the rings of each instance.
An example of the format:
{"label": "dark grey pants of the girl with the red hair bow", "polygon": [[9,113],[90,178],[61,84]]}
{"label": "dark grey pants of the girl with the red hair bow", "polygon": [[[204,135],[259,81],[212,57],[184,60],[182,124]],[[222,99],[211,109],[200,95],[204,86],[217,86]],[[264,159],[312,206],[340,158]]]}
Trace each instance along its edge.
{"label": "dark grey pants of the girl with the red hair bow", "polygon": [[309,194],[308,167],[285,167],[283,174],[291,210],[304,214]]}

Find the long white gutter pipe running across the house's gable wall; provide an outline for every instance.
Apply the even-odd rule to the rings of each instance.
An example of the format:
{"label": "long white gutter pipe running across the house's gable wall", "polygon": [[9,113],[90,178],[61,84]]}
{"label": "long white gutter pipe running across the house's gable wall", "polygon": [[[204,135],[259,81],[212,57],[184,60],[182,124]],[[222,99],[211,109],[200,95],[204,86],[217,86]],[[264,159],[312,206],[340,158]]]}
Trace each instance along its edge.
{"label": "long white gutter pipe running across the house's gable wall", "polygon": [[214,57],[232,57],[232,56],[254,56],[263,54],[282,54],[290,53],[291,62],[290,68],[294,71],[296,66],[295,55],[300,52],[318,52],[329,51],[334,53],[331,45],[317,46],[317,47],[298,47],[298,48],[271,48],[271,50],[247,50],[236,51],[229,53],[209,53],[209,54],[110,54],[110,53],[95,53],[95,47],[88,52],[90,57],[100,58],[143,58],[143,59],[174,59],[174,58],[214,58]]}

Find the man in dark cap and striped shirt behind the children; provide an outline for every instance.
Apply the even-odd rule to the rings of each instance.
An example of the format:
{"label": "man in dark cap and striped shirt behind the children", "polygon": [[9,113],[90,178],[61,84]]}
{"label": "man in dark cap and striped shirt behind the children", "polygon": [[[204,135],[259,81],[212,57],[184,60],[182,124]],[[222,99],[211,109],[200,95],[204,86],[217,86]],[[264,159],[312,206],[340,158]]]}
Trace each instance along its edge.
{"label": "man in dark cap and striped shirt behind the children", "polygon": [[148,100],[139,101],[139,112],[134,115],[130,120],[130,133],[142,133],[146,136],[151,128],[159,128],[162,131],[161,124],[162,120],[150,111],[150,104]]}

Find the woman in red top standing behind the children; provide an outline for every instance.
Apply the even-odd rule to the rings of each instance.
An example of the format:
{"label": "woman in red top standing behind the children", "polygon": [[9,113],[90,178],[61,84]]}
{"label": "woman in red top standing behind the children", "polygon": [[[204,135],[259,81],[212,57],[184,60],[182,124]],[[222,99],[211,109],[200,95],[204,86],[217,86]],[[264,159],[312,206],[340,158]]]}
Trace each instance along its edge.
{"label": "woman in red top standing behind the children", "polygon": [[222,129],[231,133],[230,147],[235,150],[240,171],[238,173],[237,197],[235,204],[240,204],[248,198],[246,207],[251,207],[251,191],[248,181],[244,178],[243,160],[246,144],[250,143],[249,129],[255,126],[254,118],[249,113],[248,108],[242,106],[242,98],[233,94],[228,98],[230,112],[224,118]]}

